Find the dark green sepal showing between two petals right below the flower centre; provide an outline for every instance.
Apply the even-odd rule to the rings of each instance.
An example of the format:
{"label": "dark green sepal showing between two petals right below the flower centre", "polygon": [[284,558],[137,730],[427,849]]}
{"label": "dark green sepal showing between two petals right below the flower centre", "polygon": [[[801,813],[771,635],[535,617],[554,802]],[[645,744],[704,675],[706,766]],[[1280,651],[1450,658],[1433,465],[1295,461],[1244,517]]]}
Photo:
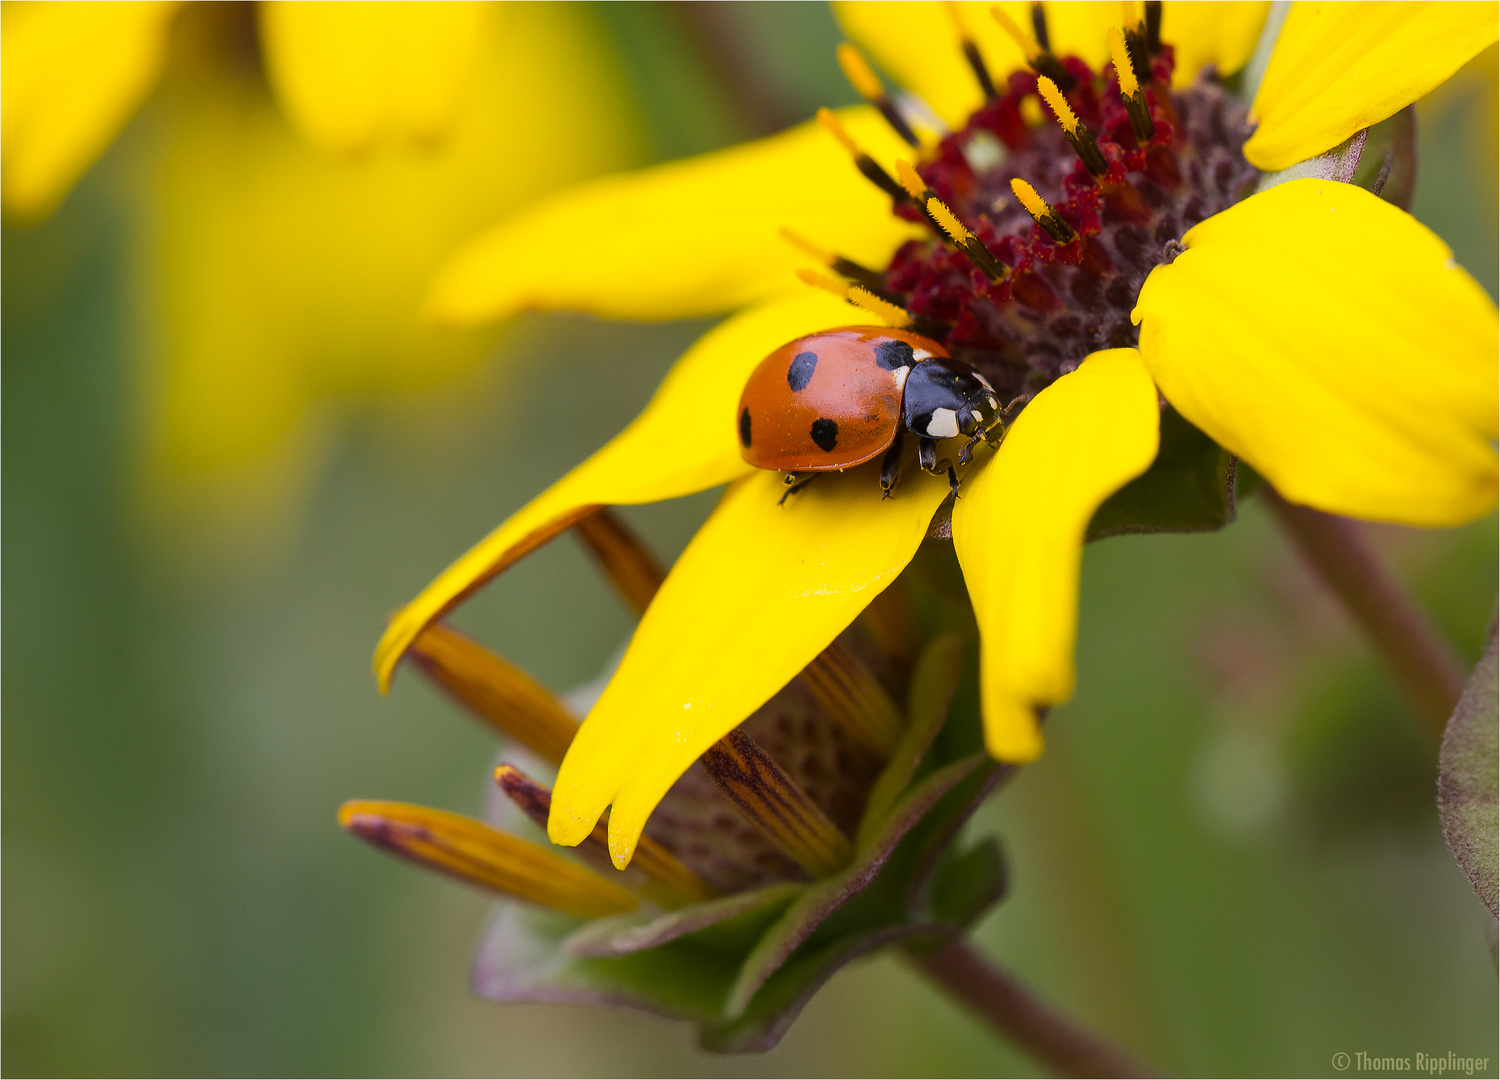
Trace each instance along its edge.
{"label": "dark green sepal showing between two petals right below the flower centre", "polygon": [[1167,406],[1161,448],[1142,476],[1104,500],[1088,540],[1125,532],[1208,532],[1234,520],[1234,458]]}

